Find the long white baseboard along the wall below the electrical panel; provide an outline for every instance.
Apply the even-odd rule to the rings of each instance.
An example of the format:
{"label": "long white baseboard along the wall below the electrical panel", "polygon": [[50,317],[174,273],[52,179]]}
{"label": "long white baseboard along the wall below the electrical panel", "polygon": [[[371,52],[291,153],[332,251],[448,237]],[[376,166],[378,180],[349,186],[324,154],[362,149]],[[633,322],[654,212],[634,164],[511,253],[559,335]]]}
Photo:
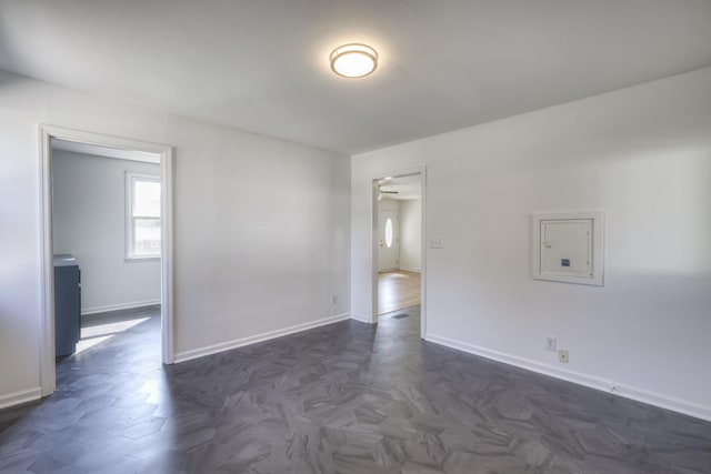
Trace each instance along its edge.
{"label": "long white baseboard along the wall below the electrical panel", "polygon": [[580,372],[559,369],[553,365],[548,365],[541,362],[531,361],[529,359],[479,347],[435,334],[425,334],[424,339],[435,344],[445,345],[448,347],[457,349],[470,354],[480,355],[482,357],[491,359],[498,362],[503,362],[504,364],[515,365],[517,367],[550,375],[552,377],[572,382],[579,385],[584,385],[590,389],[600,390],[612,395],[623,396],[625,399],[648,403],[661,409],[667,409],[701,420],[711,421],[711,406],[700,405],[698,403],[680,400],[661,393],[649,392],[643,389],[625,385],[623,383],[610,381],[607,379],[600,379]]}

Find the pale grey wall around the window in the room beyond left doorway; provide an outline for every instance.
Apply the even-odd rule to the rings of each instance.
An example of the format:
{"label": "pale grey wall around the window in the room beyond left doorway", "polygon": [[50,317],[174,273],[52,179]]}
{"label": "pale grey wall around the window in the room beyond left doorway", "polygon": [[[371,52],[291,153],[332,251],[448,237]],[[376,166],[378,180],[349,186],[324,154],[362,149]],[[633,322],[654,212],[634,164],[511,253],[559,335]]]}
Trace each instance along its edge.
{"label": "pale grey wall around the window in the room beyond left doorway", "polygon": [[126,172],[160,165],[54,150],[54,254],[81,268],[82,313],[160,302],[160,260],[126,260]]}

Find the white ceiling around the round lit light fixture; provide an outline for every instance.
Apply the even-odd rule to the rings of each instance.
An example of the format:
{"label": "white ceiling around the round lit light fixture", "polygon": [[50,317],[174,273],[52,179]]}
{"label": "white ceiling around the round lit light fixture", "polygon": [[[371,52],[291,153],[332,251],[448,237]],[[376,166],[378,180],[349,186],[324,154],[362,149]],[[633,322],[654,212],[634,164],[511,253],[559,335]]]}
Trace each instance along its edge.
{"label": "white ceiling around the round lit light fixture", "polygon": [[[0,0],[0,69],[351,154],[711,65],[709,0]],[[374,74],[334,75],[365,42]]]}

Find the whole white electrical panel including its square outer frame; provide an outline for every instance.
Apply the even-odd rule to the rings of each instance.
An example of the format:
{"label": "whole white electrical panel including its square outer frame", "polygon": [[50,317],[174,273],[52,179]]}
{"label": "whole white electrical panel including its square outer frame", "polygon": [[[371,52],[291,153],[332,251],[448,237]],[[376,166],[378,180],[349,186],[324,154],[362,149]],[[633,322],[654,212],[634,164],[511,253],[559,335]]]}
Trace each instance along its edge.
{"label": "whole white electrical panel including its square outer frame", "polygon": [[535,214],[533,279],[602,286],[603,214]]}

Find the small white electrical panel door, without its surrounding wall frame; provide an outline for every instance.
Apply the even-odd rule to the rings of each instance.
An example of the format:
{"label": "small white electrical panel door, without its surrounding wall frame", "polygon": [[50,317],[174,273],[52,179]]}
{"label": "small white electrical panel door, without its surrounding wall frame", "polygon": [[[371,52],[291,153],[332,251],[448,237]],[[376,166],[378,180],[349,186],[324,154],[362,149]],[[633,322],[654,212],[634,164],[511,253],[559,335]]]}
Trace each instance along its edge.
{"label": "small white electrical panel door, without its surrounding wall frame", "polygon": [[592,275],[592,220],[541,221],[541,272]]}

